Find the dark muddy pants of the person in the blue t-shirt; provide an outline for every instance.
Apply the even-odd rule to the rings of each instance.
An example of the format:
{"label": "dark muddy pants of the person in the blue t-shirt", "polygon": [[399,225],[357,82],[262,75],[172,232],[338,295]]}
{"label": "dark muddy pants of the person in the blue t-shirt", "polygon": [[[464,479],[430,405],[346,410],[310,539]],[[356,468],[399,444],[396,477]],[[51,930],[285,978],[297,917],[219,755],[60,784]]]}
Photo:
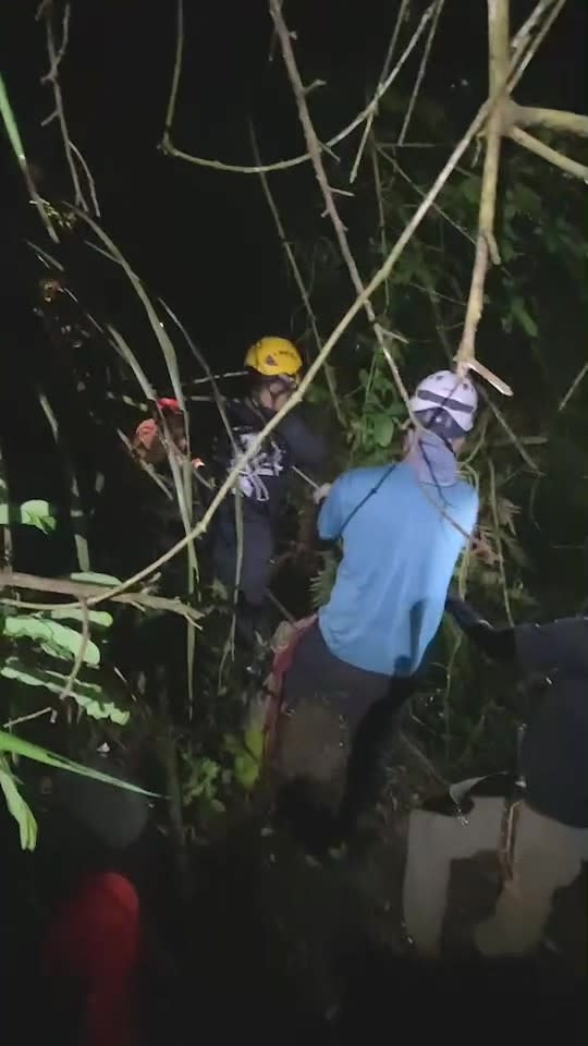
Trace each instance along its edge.
{"label": "dark muddy pants of the person in the blue t-shirt", "polygon": [[305,846],[348,837],[376,805],[412,691],[411,679],[340,660],[318,623],[301,638],[284,680],[275,768],[278,812]]}

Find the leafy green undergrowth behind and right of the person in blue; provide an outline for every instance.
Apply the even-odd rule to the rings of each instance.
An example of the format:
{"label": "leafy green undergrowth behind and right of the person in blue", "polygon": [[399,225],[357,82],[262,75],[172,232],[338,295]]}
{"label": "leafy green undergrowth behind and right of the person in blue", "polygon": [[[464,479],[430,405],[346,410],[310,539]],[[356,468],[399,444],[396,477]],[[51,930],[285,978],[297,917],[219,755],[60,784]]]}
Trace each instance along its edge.
{"label": "leafy green undergrowth behind and right of the person in blue", "polygon": [[[395,141],[405,111],[406,99],[400,94],[390,93],[382,101],[378,141],[372,143],[373,163],[371,168],[364,163],[363,177],[354,186],[356,214],[362,216],[354,230],[355,252],[366,281],[431,185],[438,171],[434,146],[453,137],[450,115],[439,107],[431,109],[428,99],[422,99],[413,114],[414,133],[433,147],[389,148],[382,143]],[[480,186],[480,162],[471,149],[373,300],[381,326],[400,335],[391,338],[390,348],[407,385],[428,370],[450,365],[457,349],[471,277]],[[562,403],[566,403],[569,388],[576,390],[575,375],[584,373],[586,353],[577,348],[587,296],[584,210],[579,183],[562,180],[560,171],[525,150],[505,151],[495,227],[502,264],[493,267],[488,280],[478,352],[514,386],[515,398],[502,402],[490,391],[490,406],[485,409],[482,403],[462,461],[464,475],[480,495],[479,536],[494,562],[469,556],[454,579],[473,603],[498,621],[528,619],[538,612],[546,595],[552,598],[541,586],[538,563],[528,551],[531,538],[532,545],[538,545],[540,531],[537,524],[532,533],[527,506],[542,482],[542,469],[547,471],[550,426],[562,429]],[[379,233],[373,236],[376,224]],[[315,245],[298,244],[296,252],[301,268],[308,273],[319,316],[332,311],[336,279],[346,279],[334,257],[322,279],[320,257],[327,250],[324,243],[320,252]],[[571,326],[575,339],[562,341],[560,331],[568,331]],[[397,459],[407,421],[388,362],[377,351],[371,332],[362,331],[359,324],[357,328],[353,343],[342,343],[336,354],[336,387],[346,419],[341,469]],[[561,353],[554,353],[554,341],[561,344]],[[574,415],[572,424],[569,414],[565,424],[564,457],[574,453],[574,433],[580,442],[586,438],[579,418],[580,403],[584,412],[587,406],[586,384],[575,394],[578,421]],[[329,409],[324,389],[317,388],[314,397],[321,408]],[[549,462],[560,474],[561,465],[552,454]],[[571,515],[575,518],[578,487],[565,489],[566,502],[572,504],[574,498]],[[586,498],[581,512],[588,520]],[[546,551],[563,555],[543,546],[543,555]],[[336,557],[323,555],[322,563],[311,585],[315,606],[329,596]],[[448,774],[479,766],[489,752],[499,762],[511,755],[513,731],[505,729],[505,720],[512,726],[512,717],[497,710],[490,690],[498,685],[497,678],[485,668],[480,680],[474,662],[478,664],[467,643],[445,634],[440,637],[437,667],[424,683],[418,709],[421,742]]]}

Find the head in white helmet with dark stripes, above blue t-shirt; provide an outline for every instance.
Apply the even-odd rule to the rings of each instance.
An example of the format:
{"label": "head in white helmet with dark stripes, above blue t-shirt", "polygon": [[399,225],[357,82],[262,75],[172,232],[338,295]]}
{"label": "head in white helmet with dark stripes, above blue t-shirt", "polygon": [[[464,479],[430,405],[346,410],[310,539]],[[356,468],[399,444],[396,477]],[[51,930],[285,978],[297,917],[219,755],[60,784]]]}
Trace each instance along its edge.
{"label": "head in white helmet with dark stripes, above blue t-shirt", "polygon": [[469,378],[438,370],[419,381],[411,398],[411,409],[422,428],[458,453],[474,427],[478,393]]}

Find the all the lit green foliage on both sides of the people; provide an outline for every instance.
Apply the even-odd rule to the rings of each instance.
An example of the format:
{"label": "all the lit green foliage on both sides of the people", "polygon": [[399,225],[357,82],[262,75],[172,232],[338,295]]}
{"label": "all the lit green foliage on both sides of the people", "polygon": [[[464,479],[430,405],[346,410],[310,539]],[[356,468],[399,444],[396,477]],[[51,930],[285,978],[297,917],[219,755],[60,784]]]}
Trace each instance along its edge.
{"label": "all the lit green foliage on both sides of the people", "polygon": [[[24,150],[3,89],[0,101],[22,162]],[[389,144],[397,139],[406,102],[402,94],[382,101],[353,198],[341,204],[365,277],[406,226],[455,136],[451,114],[421,98],[412,126],[422,147]],[[466,154],[375,299],[408,386],[451,361],[458,343],[482,151],[478,143]],[[340,183],[355,158],[350,139],[341,153],[333,174]],[[588,248],[583,188],[560,170],[505,146],[495,230],[502,264],[487,284],[478,354],[513,386],[515,396],[506,402],[482,389],[485,406],[462,466],[480,491],[480,534],[491,555],[466,557],[456,577],[461,591],[493,620],[571,613],[586,598],[588,384],[583,326]],[[187,390],[198,393],[191,381],[196,367],[199,373],[207,364],[174,315],[164,306],[156,309],[131,265],[94,219],[61,205],[44,214],[62,243],[75,241],[78,253],[87,252],[85,239],[91,235],[93,246],[107,254],[105,265],[118,266],[117,278],[144,309],[161,358],[151,367],[130,348],[108,314],[93,314],[93,305],[73,285],[71,268],[63,271],[50,254],[35,248],[40,278],[37,309],[61,390],[68,389],[66,411],[52,405],[51,389],[54,392],[59,382],[51,367],[39,365],[34,380],[48,424],[47,439],[51,437],[59,453],[64,492],[57,508],[37,499],[12,506],[2,478],[4,568],[27,568],[26,556],[13,557],[15,528],[42,532],[49,548],[46,561],[57,547],[51,545],[57,528],[69,545],[69,580],[114,592],[119,577],[147,567],[194,524],[197,499],[185,463],[179,464],[170,453],[163,482],[133,458],[130,438],[152,406],[156,386],[159,393],[176,396],[194,416],[200,406],[183,398]],[[350,288],[347,293],[347,273],[324,223],[315,231],[296,244],[295,253],[323,333],[352,292]],[[296,293],[293,287],[293,301]],[[302,326],[298,309],[294,324]],[[168,327],[177,333],[182,351],[176,351]],[[356,320],[342,339],[330,375],[331,387],[316,381],[308,400],[320,408],[320,424],[331,434],[331,474],[397,457],[406,411],[363,320]],[[103,511],[107,502],[110,515]],[[296,497],[294,512],[307,515],[306,502]],[[290,524],[292,528],[292,519]],[[2,603],[0,676],[10,680],[10,689],[2,690],[4,728],[12,731],[20,725],[24,737],[25,720],[45,717],[41,721],[47,723],[50,716],[52,725],[35,734],[41,742],[36,747],[12,732],[3,734],[0,752],[53,761],[51,765],[63,763],[72,752],[82,757],[105,739],[125,756],[142,749],[155,752],[179,837],[186,812],[188,819],[201,823],[205,814],[223,812],[248,796],[261,754],[255,715],[243,729],[243,698],[250,703],[253,694],[242,684],[235,665],[232,608],[225,594],[210,586],[206,569],[203,575],[200,559],[206,560],[206,549],[196,546],[196,551],[166,563],[155,576],[139,579],[146,585],[140,589],[144,596],[176,600],[173,612],[169,606],[140,605],[138,599],[124,608],[109,601],[108,610],[100,604],[95,609],[85,599],[70,607],[48,605],[47,591],[41,600],[40,595],[15,588]],[[336,552],[323,557],[311,586],[315,603],[327,597],[335,564]],[[308,609],[307,576],[299,563],[292,577],[298,585],[296,606]],[[27,599],[30,606],[23,605]],[[164,654],[158,653],[163,648]],[[503,698],[513,688],[513,680],[483,665],[449,624],[443,627],[412,723],[443,774],[493,768],[512,757],[516,715]],[[36,723],[30,728],[34,731]],[[56,739],[50,747],[63,756],[45,747],[49,738]],[[0,786],[19,820],[23,846],[32,847],[30,811],[19,794],[15,771],[7,757],[0,758]]]}

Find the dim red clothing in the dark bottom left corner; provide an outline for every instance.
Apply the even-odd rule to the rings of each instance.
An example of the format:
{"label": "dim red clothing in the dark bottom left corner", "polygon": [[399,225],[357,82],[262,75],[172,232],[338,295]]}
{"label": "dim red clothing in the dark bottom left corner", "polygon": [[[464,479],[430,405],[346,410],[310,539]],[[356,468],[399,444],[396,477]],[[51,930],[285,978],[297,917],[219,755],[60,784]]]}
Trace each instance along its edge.
{"label": "dim red clothing in the dark bottom left corner", "polygon": [[86,985],[84,1046],[138,1046],[134,973],[139,958],[139,900],[122,875],[88,876],[58,912],[44,946],[51,977]]}

